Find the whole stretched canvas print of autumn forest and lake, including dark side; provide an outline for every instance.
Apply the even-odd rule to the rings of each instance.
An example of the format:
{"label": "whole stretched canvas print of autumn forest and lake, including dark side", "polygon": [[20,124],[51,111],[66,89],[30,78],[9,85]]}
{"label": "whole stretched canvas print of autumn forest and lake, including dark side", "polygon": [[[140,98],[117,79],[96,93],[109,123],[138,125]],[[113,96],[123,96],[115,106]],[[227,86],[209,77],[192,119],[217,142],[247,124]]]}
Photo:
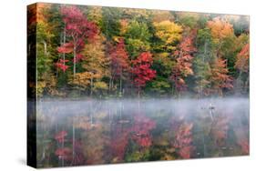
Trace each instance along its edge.
{"label": "whole stretched canvas print of autumn forest and lake, including dark side", "polygon": [[27,164],[250,152],[247,15],[27,7]]}

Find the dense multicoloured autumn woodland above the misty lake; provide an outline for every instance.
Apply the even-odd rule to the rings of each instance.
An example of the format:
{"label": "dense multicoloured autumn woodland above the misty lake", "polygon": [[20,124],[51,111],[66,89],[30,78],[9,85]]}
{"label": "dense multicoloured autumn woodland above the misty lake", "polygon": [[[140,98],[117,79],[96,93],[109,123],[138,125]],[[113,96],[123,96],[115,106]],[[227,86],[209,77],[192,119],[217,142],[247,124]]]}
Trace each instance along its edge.
{"label": "dense multicoloured autumn woodland above the misty lake", "polygon": [[37,4],[35,34],[37,96],[249,95],[248,16]]}

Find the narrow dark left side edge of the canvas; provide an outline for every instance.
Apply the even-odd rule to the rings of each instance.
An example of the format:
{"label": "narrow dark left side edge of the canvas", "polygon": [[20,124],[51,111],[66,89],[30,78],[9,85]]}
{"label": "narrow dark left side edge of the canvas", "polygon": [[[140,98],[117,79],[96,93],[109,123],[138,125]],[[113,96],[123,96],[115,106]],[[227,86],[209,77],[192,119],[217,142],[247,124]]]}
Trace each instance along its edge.
{"label": "narrow dark left side edge of the canvas", "polygon": [[[32,9],[34,8],[34,9]],[[36,165],[36,22],[30,23],[36,17],[37,3],[26,6],[26,165]],[[31,14],[31,10],[34,13]]]}

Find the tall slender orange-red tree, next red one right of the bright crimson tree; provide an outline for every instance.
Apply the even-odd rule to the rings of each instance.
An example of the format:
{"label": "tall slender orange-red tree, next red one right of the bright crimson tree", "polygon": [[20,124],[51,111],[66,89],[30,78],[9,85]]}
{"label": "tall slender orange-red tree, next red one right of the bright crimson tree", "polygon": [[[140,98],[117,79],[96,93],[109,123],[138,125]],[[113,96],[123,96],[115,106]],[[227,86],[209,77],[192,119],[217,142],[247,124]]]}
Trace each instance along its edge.
{"label": "tall slender orange-red tree, next red one right of the bright crimson tree", "polygon": [[172,70],[170,79],[174,82],[178,91],[185,91],[187,89],[185,77],[194,74],[191,68],[193,60],[192,54],[196,52],[197,49],[193,45],[193,39],[194,34],[185,36],[179,44],[179,49],[174,52],[176,57],[176,66]]}

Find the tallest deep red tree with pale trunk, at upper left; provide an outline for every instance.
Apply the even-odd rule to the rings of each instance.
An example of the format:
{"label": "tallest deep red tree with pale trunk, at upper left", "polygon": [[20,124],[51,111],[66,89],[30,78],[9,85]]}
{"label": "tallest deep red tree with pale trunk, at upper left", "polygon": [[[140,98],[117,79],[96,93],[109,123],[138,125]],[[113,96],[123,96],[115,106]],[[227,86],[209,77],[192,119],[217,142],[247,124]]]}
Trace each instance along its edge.
{"label": "tallest deep red tree with pale trunk, at upper left", "polygon": [[[77,62],[83,58],[80,52],[85,46],[85,39],[92,39],[97,35],[97,25],[87,20],[87,17],[74,5],[61,7],[61,15],[65,24],[65,32],[70,37],[70,41],[57,48],[59,53],[73,53],[73,73],[76,75]],[[64,64],[56,65],[63,71],[67,67]]]}

